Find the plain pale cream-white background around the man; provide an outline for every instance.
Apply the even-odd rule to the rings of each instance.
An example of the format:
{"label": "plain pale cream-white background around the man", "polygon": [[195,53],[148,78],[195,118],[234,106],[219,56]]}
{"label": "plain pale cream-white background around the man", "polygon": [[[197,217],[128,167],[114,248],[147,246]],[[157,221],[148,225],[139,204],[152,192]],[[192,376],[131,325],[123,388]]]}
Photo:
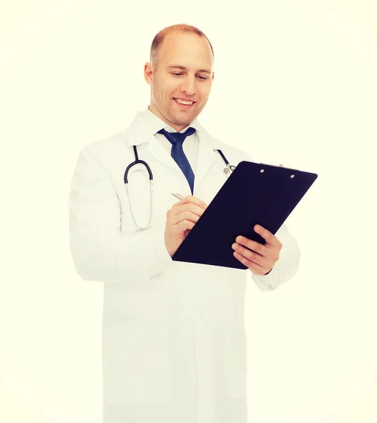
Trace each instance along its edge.
{"label": "plain pale cream-white background around the man", "polygon": [[374,0],[4,1],[0,421],[101,421],[102,284],[70,258],[70,178],[149,104],[150,44],[175,23],[214,46],[209,132],[319,173],[288,219],[297,276],[248,286],[249,422],[375,423]]}

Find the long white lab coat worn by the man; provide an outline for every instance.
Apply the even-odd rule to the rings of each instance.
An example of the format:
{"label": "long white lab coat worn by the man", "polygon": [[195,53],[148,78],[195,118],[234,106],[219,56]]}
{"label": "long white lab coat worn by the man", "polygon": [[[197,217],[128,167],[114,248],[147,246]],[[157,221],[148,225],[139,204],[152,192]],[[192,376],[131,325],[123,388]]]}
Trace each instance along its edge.
{"label": "long white lab coat worn by the man", "polygon": [[[194,195],[209,204],[230,164],[251,160],[200,127]],[[137,232],[123,183],[139,158],[154,175],[152,228]],[[146,171],[130,181],[137,222],[149,217]],[[190,195],[185,176],[140,114],[130,128],[82,149],[70,197],[70,248],[78,274],[104,282],[102,357],[104,423],[246,423],[247,342],[244,322],[247,270],[173,262],[163,233],[166,212]],[[219,228],[219,230],[221,230]],[[261,290],[288,281],[299,249],[283,225],[283,249]],[[206,240],[211,248],[211,240]]]}

